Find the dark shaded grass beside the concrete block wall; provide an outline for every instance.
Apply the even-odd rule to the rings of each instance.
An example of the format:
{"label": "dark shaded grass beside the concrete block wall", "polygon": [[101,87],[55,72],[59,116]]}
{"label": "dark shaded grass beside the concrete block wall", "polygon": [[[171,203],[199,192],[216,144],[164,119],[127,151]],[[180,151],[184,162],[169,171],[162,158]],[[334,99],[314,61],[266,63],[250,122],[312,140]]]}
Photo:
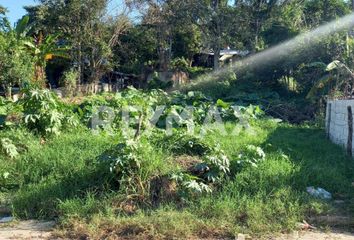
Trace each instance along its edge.
{"label": "dark shaded grass beside the concrete block wall", "polygon": [[295,166],[293,186],[304,191],[322,187],[334,198],[353,197],[354,160],[345,150],[326,139],[322,129],[282,126],[272,132],[264,148],[283,152]]}

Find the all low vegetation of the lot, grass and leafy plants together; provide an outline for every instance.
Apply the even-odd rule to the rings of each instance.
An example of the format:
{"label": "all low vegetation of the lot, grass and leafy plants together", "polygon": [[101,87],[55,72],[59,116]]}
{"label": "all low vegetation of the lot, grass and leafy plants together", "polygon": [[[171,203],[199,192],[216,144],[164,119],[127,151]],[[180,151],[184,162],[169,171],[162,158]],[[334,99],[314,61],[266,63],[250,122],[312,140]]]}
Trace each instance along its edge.
{"label": "all low vegetation of the lot, grass and leafy plants together", "polygon": [[[31,90],[16,107],[3,99],[0,108],[0,202],[10,202],[18,218],[59,218],[63,237],[263,234],[328,213],[330,203],[309,197],[308,185],[352,197],[351,160],[317,127],[278,123],[254,106],[231,111],[232,102],[199,92],[129,89],[71,101]],[[160,123],[149,121],[160,104]],[[176,117],[189,104],[194,132]],[[204,125],[209,105],[228,134]],[[134,106],[128,129],[119,114],[127,106]],[[163,126],[172,111],[170,135]],[[27,122],[32,115],[36,121]],[[64,124],[69,118],[78,121]],[[100,127],[90,124],[94,118]],[[136,232],[124,230],[137,224]]]}

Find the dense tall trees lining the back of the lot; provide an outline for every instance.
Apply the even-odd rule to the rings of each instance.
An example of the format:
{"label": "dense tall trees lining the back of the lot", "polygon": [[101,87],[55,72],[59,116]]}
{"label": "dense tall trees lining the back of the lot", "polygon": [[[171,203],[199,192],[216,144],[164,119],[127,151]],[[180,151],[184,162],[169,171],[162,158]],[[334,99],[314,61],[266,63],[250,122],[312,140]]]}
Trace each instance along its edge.
{"label": "dense tall trees lining the back of the lot", "polygon": [[[26,44],[30,48],[27,53],[18,35],[14,36],[15,31],[8,30],[6,18],[1,17],[1,37],[8,38],[1,44],[2,51],[6,51],[2,55],[9,56],[5,58],[7,63],[2,64],[3,71],[6,71],[1,74],[3,86],[8,88],[19,81],[31,81],[31,67],[36,68],[35,79],[45,77],[43,68],[47,66],[46,61],[52,63],[47,67],[47,72],[58,71],[58,68],[67,72],[76,71],[75,84],[71,81],[69,86],[75,89],[78,84],[98,83],[112,70],[143,74],[145,80],[154,71],[183,71],[194,79],[209,69],[205,68],[203,58],[196,56],[215,52],[213,65],[219,68],[220,51],[225,46],[251,54],[258,53],[349,14],[351,10],[350,2],[344,0],[135,0],[126,1],[126,8],[109,4],[112,3],[96,0],[85,4],[76,0],[39,1],[37,6],[26,7],[31,28],[23,28],[19,22],[18,30],[26,29],[21,38],[33,38],[33,45]],[[108,11],[108,6],[113,10]],[[132,16],[138,20],[129,19]],[[53,35],[59,37],[53,38]],[[52,47],[48,46],[48,39],[52,39]],[[64,54],[53,49],[53,39],[56,39],[54,43],[59,50],[72,51]],[[286,101],[289,97],[304,99],[314,84],[326,76],[325,68],[321,66],[339,60],[353,68],[353,47],[352,34],[337,32],[319,39],[311,48],[303,43],[289,58],[243,68],[244,71],[237,72],[237,82],[250,83],[249,90],[254,86],[269,88]],[[28,51],[34,59],[30,59]],[[56,54],[67,57],[53,59]],[[22,57],[16,59],[19,55]],[[31,65],[31,61],[35,64]],[[64,72],[58,74],[63,75]],[[163,85],[158,79],[155,80],[150,88]],[[63,81],[53,81],[51,79],[51,84],[63,83],[66,86]],[[232,82],[226,90],[232,91],[237,86],[238,83]],[[321,91],[311,100],[320,103],[321,97],[327,93]],[[75,91],[70,90],[69,94],[75,94]],[[307,104],[310,102],[304,101]],[[300,109],[299,101],[295,102]]]}

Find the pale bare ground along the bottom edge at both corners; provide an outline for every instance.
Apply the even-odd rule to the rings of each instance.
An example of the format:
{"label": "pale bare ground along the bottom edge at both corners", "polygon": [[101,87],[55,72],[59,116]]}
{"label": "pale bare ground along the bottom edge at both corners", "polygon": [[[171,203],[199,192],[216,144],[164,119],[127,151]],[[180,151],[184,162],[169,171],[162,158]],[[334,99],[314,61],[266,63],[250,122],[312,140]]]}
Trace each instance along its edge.
{"label": "pale bare ground along the bottom edge at both corners", "polygon": [[[354,240],[354,218],[348,214],[348,210],[341,206],[329,215],[316,216],[308,219],[309,223],[314,226],[327,226],[325,230],[299,230],[291,234],[282,234],[276,236],[264,236],[261,240]],[[0,223],[0,240],[23,240],[23,239],[60,239],[55,237],[56,223],[54,221],[15,221],[11,223]],[[303,229],[303,228],[302,228]],[[307,229],[307,228],[306,228]],[[214,240],[210,233],[203,236],[203,239]],[[192,238],[198,239],[198,238]],[[247,235],[240,234],[235,240],[254,239]]]}

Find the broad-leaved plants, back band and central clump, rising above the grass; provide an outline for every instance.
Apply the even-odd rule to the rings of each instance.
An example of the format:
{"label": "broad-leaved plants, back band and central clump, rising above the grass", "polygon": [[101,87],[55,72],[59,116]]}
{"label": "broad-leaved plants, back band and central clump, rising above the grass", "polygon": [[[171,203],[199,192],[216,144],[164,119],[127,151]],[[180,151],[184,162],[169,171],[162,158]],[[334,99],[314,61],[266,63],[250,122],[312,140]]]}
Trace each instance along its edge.
{"label": "broad-leaved plants, back band and central clump, rising above the grass", "polygon": [[[2,102],[2,129],[5,133],[19,129],[20,134],[5,134],[1,138],[4,156],[14,159],[26,155],[27,146],[18,145],[17,137],[21,138],[22,134],[39,136],[46,144],[45,139],[61,134],[64,129],[67,134],[74,128],[79,132],[92,128],[98,135],[110,134],[116,138],[115,145],[98,158],[98,167],[103,171],[99,185],[128,195],[137,194],[141,197],[139,201],[150,204],[160,201],[161,197],[152,193],[156,190],[151,189],[154,179],[166,179],[170,184],[176,184],[176,200],[190,199],[217,189],[231,173],[230,159],[220,145],[204,140],[203,136],[218,132],[215,127],[222,124],[218,120],[238,122],[242,131],[247,127],[242,125],[243,121],[262,116],[258,107],[235,107],[222,100],[212,102],[199,92],[169,95],[162,90],[143,92],[134,88],[119,94],[87,97],[74,105],[62,102],[48,90],[30,89],[14,109],[11,101]],[[186,109],[191,110],[191,115],[185,115]],[[154,115],[156,111],[161,111],[159,116]],[[261,151],[247,149],[248,152],[254,151],[254,156]],[[165,163],[163,159],[169,155],[173,156],[172,159],[180,158],[179,167],[167,167],[172,159]],[[244,155],[244,159],[239,159],[238,171],[243,163],[256,165],[255,161],[252,154]],[[157,168],[153,167],[154,164]],[[6,175],[2,188],[28,184],[21,179],[18,180],[25,182],[14,183],[15,179],[10,177],[13,176],[11,169],[5,167],[2,171],[1,174]],[[52,214],[54,212],[46,212],[45,216]]]}

